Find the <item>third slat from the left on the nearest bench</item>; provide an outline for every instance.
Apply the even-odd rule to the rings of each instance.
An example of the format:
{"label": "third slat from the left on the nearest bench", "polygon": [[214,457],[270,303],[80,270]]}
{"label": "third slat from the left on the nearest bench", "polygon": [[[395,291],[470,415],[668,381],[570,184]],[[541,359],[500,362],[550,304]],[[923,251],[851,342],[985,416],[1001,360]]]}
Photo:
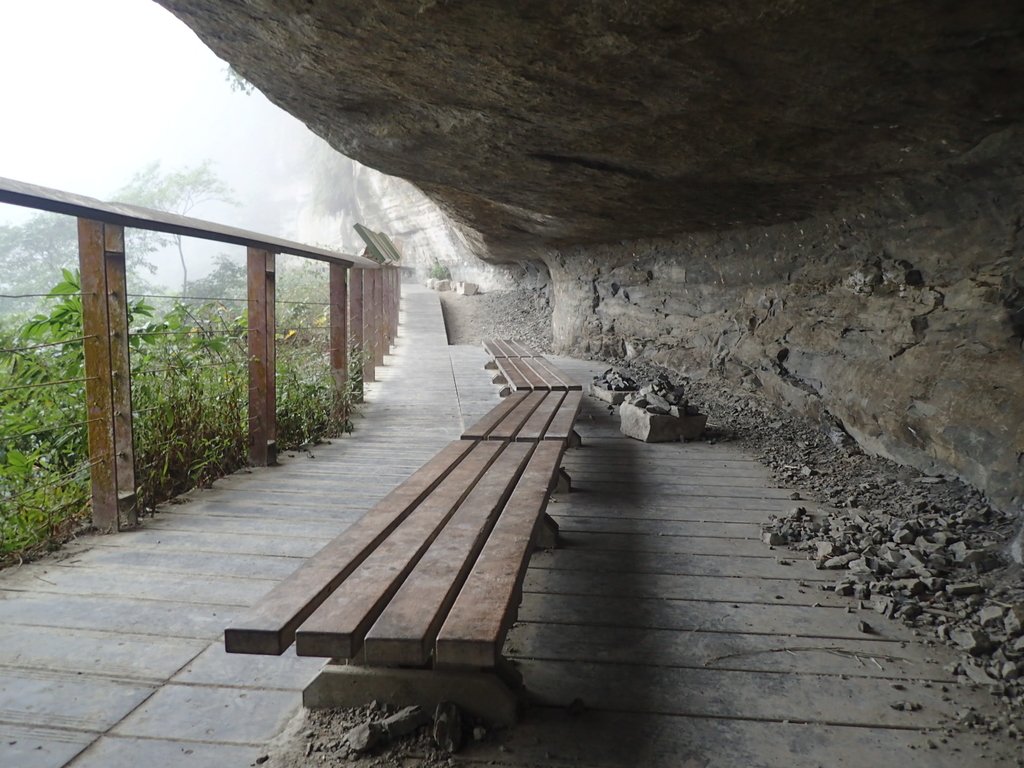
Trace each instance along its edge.
{"label": "third slat from the left on the nearest bench", "polygon": [[391,598],[364,644],[369,665],[420,667],[531,452],[505,449]]}

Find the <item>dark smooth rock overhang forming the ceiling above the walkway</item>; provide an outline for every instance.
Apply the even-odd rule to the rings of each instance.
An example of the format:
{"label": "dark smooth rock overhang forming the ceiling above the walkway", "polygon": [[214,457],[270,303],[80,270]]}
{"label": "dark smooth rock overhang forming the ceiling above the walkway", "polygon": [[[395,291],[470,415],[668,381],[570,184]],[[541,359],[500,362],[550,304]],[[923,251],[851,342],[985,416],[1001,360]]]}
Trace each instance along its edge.
{"label": "dark smooth rock overhang forming the ceiling above the walkway", "polygon": [[496,260],[801,219],[1024,117],[996,0],[159,2]]}

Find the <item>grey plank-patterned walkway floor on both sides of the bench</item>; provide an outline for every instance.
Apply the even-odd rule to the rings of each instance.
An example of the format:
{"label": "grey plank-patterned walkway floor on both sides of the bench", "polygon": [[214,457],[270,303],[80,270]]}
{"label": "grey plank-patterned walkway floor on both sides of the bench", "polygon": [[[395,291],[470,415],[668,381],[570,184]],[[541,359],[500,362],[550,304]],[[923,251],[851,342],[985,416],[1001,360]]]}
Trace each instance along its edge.
{"label": "grey plank-patterned walkway floor on both sides of the bench", "polygon": [[[436,296],[408,288],[354,435],[0,572],[0,766],[248,766],[264,753],[321,662],[227,655],[223,628],[498,399],[482,350],[447,347]],[[550,509],[564,546],[535,556],[507,646],[536,706],[462,759],[988,764],[966,739],[929,749],[956,709],[986,705],[944,692],[948,656],[847,612],[820,571],[760,543],[759,523],[792,502],[759,464],[727,445],[627,440],[589,399],[580,431],[565,462],[577,490]],[[893,709],[903,701],[921,709]]]}

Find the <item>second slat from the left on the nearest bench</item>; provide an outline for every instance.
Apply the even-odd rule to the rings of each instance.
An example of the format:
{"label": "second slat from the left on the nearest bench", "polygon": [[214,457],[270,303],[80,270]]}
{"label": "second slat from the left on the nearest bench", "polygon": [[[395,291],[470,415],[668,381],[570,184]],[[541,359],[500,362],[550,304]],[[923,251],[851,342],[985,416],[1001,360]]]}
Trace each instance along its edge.
{"label": "second slat from the left on the nearest bench", "polygon": [[466,459],[302,623],[295,633],[296,652],[353,658],[388,600],[507,444],[473,443]]}

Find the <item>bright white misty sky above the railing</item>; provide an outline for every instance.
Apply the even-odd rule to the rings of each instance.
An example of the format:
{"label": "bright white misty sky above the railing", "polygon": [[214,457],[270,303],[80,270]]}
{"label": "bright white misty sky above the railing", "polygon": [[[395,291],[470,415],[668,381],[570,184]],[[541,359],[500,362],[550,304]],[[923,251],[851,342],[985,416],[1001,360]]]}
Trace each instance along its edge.
{"label": "bright white misty sky above the railing", "polygon": [[[225,71],[150,0],[0,0],[0,176],[106,200],[153,161],[211,159],[242,205],[193,215],[295,237],[267,216],[283,194],[267,185],[286,186],[311,134]],[[0,205],[0,223],[26,215]]]}

